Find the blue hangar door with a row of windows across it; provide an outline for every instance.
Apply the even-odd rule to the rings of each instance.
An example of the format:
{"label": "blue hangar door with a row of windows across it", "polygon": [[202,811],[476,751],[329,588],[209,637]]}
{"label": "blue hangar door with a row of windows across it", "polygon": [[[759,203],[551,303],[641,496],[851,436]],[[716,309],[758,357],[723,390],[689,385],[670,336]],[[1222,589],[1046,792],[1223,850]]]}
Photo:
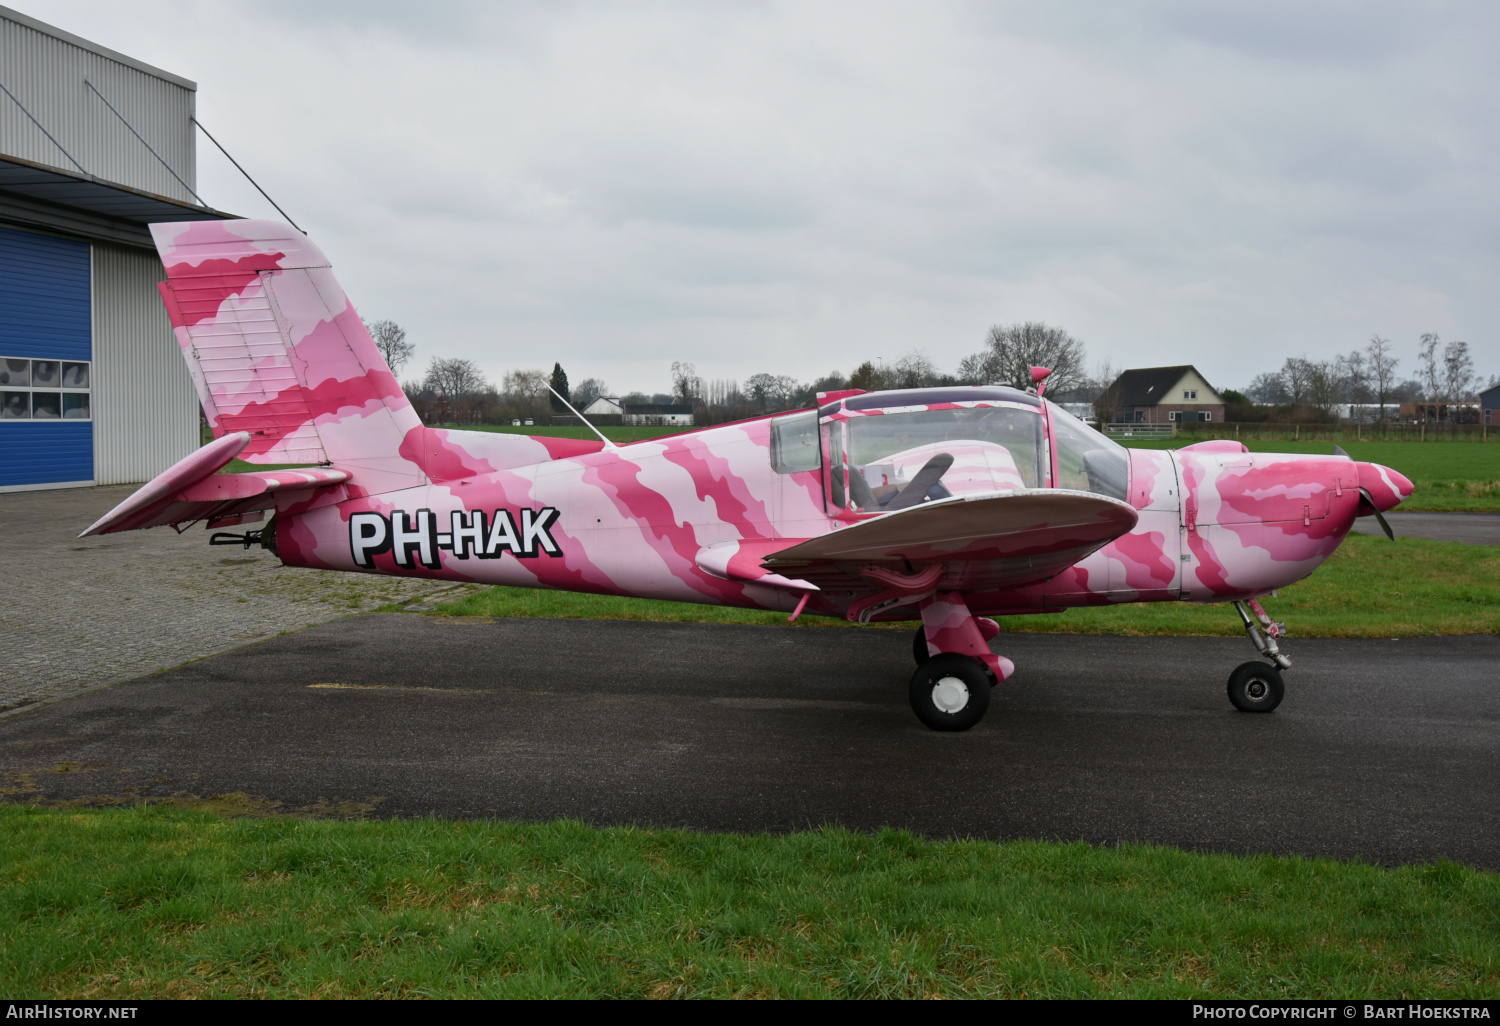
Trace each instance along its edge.
{"label": "blue hangar door with a row of windows across it", "polygon": [[88,243],[0,228],[0,490],[93,482]]}

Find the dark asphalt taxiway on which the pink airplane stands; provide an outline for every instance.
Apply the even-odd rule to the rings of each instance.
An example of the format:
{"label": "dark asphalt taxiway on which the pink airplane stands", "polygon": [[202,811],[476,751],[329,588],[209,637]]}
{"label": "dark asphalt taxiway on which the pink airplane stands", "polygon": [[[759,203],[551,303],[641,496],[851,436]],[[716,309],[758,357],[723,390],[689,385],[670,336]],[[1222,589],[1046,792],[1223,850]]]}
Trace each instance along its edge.
{"label": "dark asphalt taxiway on which the pink airplane stands", "polygon": [[1002,634],[968,734],[896,630],[363,615],[0,720],[6,801],[1155,842],[1500,868],[1500,638]]}

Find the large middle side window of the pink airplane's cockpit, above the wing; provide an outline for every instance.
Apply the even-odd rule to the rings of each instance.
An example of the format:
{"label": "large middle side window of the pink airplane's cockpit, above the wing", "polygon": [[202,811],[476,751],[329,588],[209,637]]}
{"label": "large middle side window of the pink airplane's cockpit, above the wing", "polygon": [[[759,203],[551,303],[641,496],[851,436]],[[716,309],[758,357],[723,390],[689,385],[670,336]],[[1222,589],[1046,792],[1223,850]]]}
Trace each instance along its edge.
{"label": "large middle side window of the pink airplane's cockpit, above the wing", "polygon": [[[974,492],[1038,488],[1042,418],[1011,405],[855,416],[830,430],[830,501],[866,513]],[[848,454],[848,495],[843,456]]]}

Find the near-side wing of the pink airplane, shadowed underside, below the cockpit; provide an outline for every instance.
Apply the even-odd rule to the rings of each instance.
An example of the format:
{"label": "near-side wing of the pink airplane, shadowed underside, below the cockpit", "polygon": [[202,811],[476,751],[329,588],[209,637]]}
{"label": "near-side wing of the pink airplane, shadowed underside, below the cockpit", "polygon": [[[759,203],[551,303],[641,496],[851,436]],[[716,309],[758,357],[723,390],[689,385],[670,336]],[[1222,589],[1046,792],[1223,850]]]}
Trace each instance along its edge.
{"label": "near-side wing of the pink airplane, shadowed underside, below the cockpit", "polygon": [[1136,526],[1128,504],[1094,492],[1018,489],[924,502],[798,542],[762,566],[826,588],[837,578],[945,567],[944,586],[1016,586],[1050,578]]}

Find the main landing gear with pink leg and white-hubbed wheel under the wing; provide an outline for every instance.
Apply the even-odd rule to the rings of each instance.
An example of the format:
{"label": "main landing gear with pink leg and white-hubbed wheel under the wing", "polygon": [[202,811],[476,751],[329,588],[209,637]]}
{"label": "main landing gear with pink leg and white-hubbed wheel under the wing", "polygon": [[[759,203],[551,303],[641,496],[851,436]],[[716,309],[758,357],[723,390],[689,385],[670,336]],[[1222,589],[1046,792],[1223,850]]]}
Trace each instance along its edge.
{"label": "main landing gear with pink leg and white-hubbed wheel under the wing", "polygon": [[990,651],[999,624],[970,614],[963,596],[933,594],[921,610],[922,626],[912,638],[912,712],[933,730],[968,730],[990,708],[990,688],[1016,664]]}

